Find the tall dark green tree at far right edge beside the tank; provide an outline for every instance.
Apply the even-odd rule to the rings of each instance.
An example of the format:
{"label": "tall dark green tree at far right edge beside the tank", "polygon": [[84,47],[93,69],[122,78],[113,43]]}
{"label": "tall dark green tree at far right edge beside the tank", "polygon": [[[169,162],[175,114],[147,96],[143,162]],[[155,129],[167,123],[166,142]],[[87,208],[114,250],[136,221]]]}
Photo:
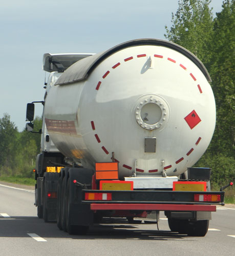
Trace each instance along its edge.
{"label": "tall dark green tree at far right edge beside the tank", "polygon": [[235,1],[224,1],[213,28],[209,72],[216,98],[217,125],[211,148],[235,155]]}

